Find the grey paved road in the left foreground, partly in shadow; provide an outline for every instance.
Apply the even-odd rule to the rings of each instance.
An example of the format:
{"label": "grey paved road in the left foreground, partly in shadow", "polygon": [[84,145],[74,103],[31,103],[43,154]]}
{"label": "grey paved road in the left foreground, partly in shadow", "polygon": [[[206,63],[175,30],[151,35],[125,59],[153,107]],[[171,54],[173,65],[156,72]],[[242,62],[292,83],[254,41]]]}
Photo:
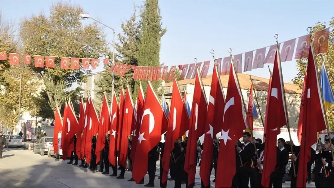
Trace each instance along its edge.
{"label": "grey paved road in the left foreground, partly in shadow", "polygon": [[[0,188],[144,188],[143,185],[127,181],[131,177],[130,172],[126,172],[124,180],[118,180],[99,172],[68,165],[68,161],[34,155],[31,151],[16,148],[5,148],[3,157],[0,159]],[[157,169],[157,174],[158,172]],[[147,182],[146,176],[145,183]],[[314,187],[314,183],[309,186]],[[155,180],[155,187],[159,187],[158,178]],[[168,181],[167,188],[173,187],[174,182]],[[199,188],[200,185],[196,187]],[[290,184],[285,183],[283,187],[290,187]]]}

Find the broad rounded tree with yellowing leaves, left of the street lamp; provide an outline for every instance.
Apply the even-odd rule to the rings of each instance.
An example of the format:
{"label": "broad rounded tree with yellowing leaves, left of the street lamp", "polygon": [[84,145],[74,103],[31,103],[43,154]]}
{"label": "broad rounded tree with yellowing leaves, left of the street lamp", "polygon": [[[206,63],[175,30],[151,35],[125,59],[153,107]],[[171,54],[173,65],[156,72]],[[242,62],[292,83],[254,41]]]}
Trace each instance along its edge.
{"label": "broad rounded tree with yellowing leaves, left of the street lamp", "polygon": [[[25,53],[57,57],[105,56],[105,34],[97,23],[82,26],[79,18],[82,12],[82,8],[77,5],[58,2],[51,6],[49,16],[39,14],[24,19],[21,22],[20,37]],[[45,89],[42,92],[48,97],[48,101],[44,102],[48,103],[52,111],[55,111],[55,104],[61,105],[69,97],[65,90],[74,82],[83,82],[85,74],[90,73],[82,69],[61,69],[60,58],[57,57],[55,68],[35,68],[34,63],[30,66],[43,78]],[[43,101],[45,93],[39,96],[40,101]],[[42,106],[47,107],[47,104]]]}

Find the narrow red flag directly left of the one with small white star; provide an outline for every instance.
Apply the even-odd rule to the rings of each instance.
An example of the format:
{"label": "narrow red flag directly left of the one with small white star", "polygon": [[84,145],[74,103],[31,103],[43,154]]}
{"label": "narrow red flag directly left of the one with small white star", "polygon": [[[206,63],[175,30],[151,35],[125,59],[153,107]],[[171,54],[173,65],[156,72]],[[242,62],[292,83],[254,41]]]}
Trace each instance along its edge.
{"label": "narrow red flag directly left of the one with small white star", "polygon": [[98,159],[96,160],[97,163],[99,162],[101,151],[106,146],[106,133],[109,131],[109,124],[110,124],[110,112],[105,93],[103,95],[103,102],[101,108],[100,125],[98,131],[99,133],[98,133],[98,138],[96,140],[95,155],[96,158]]}

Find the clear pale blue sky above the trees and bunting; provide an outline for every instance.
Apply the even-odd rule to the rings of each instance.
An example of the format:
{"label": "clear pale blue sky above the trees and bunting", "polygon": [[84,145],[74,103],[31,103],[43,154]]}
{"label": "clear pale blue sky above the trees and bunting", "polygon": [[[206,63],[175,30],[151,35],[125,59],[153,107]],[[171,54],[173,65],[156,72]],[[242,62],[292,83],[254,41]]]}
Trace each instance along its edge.
{"label": "clear pale blue sky above the trees and bunting", "polygon": [[[65,1],[65,0],[63,0]],[[6,19],[16,23],[31,14],[49,14],[56,1],[2,0],[1,11]],[[133,12],[133,4],[143,1],[80,0],[79,4],[92,17],[121,32],[122,21]],[[283,42],[307,34],[307,27],[316,22],[329,23],[334,16],[334,1],[220,1],[220,0],[160,0],[162,23],[167,33],[161,40],[160,60],[166,65],[193,63],[225,57],[228,48],[239,54],[276,43],[274,34]],[[89,23],[90,21],[84,21]],[[104,29],[112,43],[112,31]],[[43,54],[41,54],[43,55]],[[297,73],[295,61],[284,62],[284,81],[290,82]],[[100,68],[101,70],[101,68]],[[210,72],[209,72],[210,73]],[[269,77],[267,66],[248,74]]]}

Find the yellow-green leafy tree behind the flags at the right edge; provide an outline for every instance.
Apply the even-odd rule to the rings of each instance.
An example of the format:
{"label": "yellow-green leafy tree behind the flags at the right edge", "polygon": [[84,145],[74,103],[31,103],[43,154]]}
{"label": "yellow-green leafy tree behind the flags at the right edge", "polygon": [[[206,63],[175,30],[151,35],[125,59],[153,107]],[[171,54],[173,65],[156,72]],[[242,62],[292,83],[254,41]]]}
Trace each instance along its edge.
{"label": "yellow-green leafy tree behind the flags at the right edge", "polygon": [[[331,21],[329,22],[330,26],[334,26],[334,17],[331,18]],[[318,22],[314,26],[312,26],[312,40],[314,37],[314,33],[320,30],[323,30],[326,28],[325,23]],[[328,52],[324,54],[317,54],[316,55],[316,61],[318,65],[318,69],[321,70],[321,66],[323,63],[323,60],[321,56],[323,56],[325,64],[326,64],[326,69],[329,77],[329,81],[332,85],[332,88],[334,87],[334,49],[333,49],[333,44],[334,44],[334,31],[332,30],[329,35],[329,42],[328,42]],[[298,85],[300,89],[303,89],[303,83],[304,83],[304,76],[307,70],[307,61],[308,58],[301,58],[296,60],[297,63],[297,75],[295,78],[292,80],[294,84]],[[327,112],[327,118],[328,118],[328,126],[330,130],[334,130],[334,116],[332,111],[334,110],[334,107],[330,108]]]}

